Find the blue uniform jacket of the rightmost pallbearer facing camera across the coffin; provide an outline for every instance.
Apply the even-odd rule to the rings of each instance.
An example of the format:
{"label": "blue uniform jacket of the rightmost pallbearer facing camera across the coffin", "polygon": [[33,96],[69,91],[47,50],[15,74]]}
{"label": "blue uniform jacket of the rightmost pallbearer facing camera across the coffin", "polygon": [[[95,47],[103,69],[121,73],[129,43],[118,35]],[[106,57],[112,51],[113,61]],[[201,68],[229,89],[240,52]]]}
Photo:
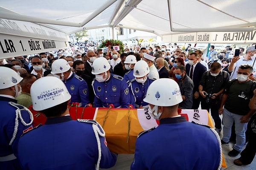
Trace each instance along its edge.
{"label": "blue uniform jacket of the rightmost pallbearer facing camera across the coffin", "polygon": [[148,86],[152,82],[154,82],[154,80],[156,79],[152,77],[147,77],[147,80],[145,81],[144,85],[142,83],[137,82],[136,79],[132,79],[128,82],[131,96],[131,105],[133,105],[134,108],[140,108],[140,106],[148,105],[148,103],[144,102],[143,99],[147,94]]}

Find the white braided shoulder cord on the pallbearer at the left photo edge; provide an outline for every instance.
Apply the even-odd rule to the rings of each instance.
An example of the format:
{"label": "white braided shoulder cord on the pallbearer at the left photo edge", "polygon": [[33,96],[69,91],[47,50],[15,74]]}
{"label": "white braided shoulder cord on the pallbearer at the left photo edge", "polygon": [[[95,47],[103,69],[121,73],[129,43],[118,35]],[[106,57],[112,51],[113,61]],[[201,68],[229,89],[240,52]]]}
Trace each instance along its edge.
{"label": "white braided shoulder cord on the pallbearer at the left photo edge", "polygon": [[[32,122],[33,122],[33,120],[34,120],[34,118],[33,118],[33,114],[31,113],[31,111],[29,111],[28,108],[26,108],[25,106],[23,106],[24,109],[29,113],[29,117],[30,117],[30,120],[31,120],[29,123],[26,123],[26,122],[23,120],[22,116],[21,116],[20,108],[18,108],[17,106],[13,105],[12,102],[9,102],[9,104],[12,105],[12,106],[14,106],[15,108],[17,108],[16,111],[15,111],[15,112],[16,112],[16,118],[15,118],[14,132],[13,132],[13,134],[12,134],[12,139],[11,139],[11,141],[10,141],[10,143],[9,143],[9,145],[12,145],[12,142],[14,141],[14,139],[15,139],[15,137],[16,137],[16,134],[17,134],[17,131],[18,131],[18,126],[19,126],[18,118],[20,118],[21,123],[22,123],[23,125],[25,125],[25,126],[31,125]],[[22,109],[22,110],[23,110],[23,109]]]}

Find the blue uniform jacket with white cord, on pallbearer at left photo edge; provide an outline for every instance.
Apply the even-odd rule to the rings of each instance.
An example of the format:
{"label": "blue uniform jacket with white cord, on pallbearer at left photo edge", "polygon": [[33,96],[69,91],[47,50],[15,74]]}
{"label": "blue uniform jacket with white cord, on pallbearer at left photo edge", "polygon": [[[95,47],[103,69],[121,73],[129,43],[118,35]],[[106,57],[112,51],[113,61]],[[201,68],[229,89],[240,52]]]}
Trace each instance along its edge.
{"label": "blue uniform jacket with white cord, on pallbearer at left photo edge", "polygon": [[[12,139],[12,135],[15,127],[15,111],[17,108],[10,105],[9,102],[17,103],[17,100],[0,96],[0,157],[8,156],[15,154],[17,156],[17,142],[20,139],[20,136],[26,130],[32,129],[33,125],[25,126],[18,119],[19,125],[15,140],[10,146],[9,143]],[[24,108],[22,105],[19,105],[19,108]],[[31,122],[29,113],[26,110],[21,110],[21,116],[26,123]],[[17,159],[11,161],[0,161],[0,169],[2,170],[16,170],[18,169],[19,164]]]}

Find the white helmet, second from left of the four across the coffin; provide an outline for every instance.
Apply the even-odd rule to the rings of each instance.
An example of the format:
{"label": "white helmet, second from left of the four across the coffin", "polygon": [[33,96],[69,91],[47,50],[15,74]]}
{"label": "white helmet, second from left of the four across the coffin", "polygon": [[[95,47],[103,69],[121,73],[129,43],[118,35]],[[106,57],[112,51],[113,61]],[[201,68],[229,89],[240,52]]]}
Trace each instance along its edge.
{"label": "white helmet, second from left of the four across the coffin", "polygon": [[101,74],[111,68],[108,60],[105,57],[96,58],[93,62],[92,74]]}

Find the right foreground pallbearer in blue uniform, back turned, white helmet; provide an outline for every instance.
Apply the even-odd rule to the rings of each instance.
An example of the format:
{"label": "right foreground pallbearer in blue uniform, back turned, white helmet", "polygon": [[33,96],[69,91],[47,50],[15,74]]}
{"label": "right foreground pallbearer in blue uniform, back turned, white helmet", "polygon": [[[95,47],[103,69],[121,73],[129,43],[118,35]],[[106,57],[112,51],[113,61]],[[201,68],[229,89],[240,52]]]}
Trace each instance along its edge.
{"label": "right foreground pallbearer in blue uniform, back turned, white helmet", "polygon": [[138,135],[131,170],[221,168],[218,133],[210,127],[187,122],[177,113],[178,104],[182,102],[177,82],[157,79],[148,87],[144,101],[149,103],[148,113],[160,119],[160,125]]}

